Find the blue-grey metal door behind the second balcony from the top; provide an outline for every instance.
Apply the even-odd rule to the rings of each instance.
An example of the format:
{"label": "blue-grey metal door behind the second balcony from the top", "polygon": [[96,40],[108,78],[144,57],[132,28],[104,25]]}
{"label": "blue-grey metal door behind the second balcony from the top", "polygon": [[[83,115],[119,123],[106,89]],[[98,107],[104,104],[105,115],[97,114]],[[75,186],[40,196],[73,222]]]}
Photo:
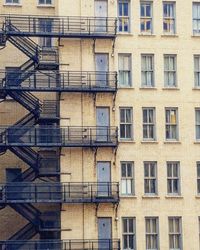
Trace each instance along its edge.
{"label": "blue-grey metal door behind the second balcony from the top", "polygon": [[95,54],[96,85],[108,86],[108,54]]}

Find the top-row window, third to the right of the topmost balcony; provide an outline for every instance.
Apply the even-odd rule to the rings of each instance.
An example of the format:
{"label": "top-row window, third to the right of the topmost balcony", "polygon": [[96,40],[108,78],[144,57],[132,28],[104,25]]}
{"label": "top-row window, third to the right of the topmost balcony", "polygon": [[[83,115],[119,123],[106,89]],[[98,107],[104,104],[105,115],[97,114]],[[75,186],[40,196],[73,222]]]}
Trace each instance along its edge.
{"label": "top-row window, third to the right of the topmost balcony", "polygon": [[163,31],[167,34],[176,33],[175,23],[175,3],[164,2],[163,3]]}

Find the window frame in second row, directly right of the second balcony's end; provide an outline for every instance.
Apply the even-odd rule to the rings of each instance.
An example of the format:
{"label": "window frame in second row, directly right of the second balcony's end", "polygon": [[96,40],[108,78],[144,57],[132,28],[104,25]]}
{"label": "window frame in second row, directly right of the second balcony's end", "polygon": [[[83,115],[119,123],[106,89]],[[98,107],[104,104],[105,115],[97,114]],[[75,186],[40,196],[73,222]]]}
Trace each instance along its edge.
{"label": "window frame in second row, directly right of the second balcony's end", "polygon": [[[128,57],[128,67],[129,70],[121,70],[120,69],[120,57]],[[128,85],[120,85],[120,72],[122,73],[128,73],[128,77],[129,77],[129,84]],[[131,53],[119,53],[118,54],[118,87],[119,88],[131,88],[132,87],[132,54]]]}

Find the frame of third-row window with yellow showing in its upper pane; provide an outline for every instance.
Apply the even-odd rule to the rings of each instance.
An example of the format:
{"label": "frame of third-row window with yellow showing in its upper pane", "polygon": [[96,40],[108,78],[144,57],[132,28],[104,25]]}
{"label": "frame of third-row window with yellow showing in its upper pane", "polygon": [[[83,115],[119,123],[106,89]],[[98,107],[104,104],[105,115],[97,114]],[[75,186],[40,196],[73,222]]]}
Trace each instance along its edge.
{"label": "frame of third-row window with yellow showing in its upper pane", "polygon": [[[167,122],[167,111],[175,111],[175,117],[176,117],[176,123],[172,123],[172,122]],[[170,115],[171,116],[171,115]],[[166,141],[178,141],[179,140],[179,116],[178,116],[178,108],[177,107],[166,107],[165,108],[165,140]],[[169,134],[170,137],[167,138],[167,128],[169,127]],[[175,127],[175,132],[176,132],[176,136],[175,138],[172,138],[172,132],[173,129],[171,129],[172,127]]]}

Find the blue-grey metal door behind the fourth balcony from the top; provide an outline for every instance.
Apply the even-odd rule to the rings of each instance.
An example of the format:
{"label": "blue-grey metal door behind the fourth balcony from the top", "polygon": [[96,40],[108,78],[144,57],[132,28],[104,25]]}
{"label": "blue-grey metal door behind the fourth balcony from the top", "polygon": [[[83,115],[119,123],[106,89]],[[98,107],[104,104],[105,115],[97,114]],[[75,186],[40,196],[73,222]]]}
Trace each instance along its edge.
{"label": "blue-grey metal door behind the fourth balcony from the top", "polygon": [[97,196],[109,197],[111,195],[111,170],[110,162],[97,163]]}

